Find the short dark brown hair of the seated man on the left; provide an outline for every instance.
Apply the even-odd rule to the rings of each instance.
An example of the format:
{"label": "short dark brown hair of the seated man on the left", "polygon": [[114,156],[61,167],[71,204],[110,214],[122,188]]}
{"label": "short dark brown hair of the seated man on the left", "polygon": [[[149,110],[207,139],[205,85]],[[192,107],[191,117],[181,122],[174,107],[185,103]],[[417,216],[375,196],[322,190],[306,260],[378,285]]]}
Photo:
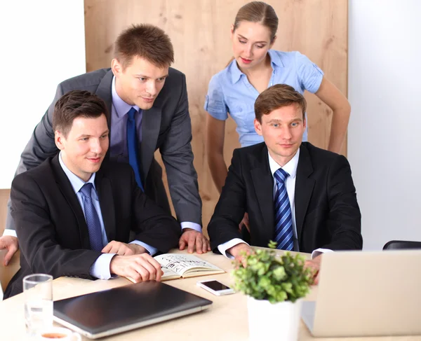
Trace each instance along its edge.
{"label": "short dark brown hair of the seated man on the left", "polygon": [[55,103],[53,131],[59,130],[67,137],[75,118],[98,118],[101,115],[108,117],[107,106],[100,97],[89,91],[72,90]]}

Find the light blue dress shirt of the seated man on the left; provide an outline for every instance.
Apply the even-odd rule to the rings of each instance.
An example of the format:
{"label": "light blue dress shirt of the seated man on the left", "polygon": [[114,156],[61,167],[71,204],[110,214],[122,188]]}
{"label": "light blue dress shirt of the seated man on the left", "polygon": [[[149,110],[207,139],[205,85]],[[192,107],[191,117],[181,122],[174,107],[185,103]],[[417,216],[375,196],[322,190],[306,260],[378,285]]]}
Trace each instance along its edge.
{"label": "light blue dress shirt of the seated man on the left", "polygon": [[[79,190],[82,188],[82,186],[85,183],[92,183],[92,190],[91,190],[91,197],[93,206],[95,207],[95,210],[97,211],[98,218],[100,219],[100,225],[101,225],[101,234],[102,234],[102,244],[105,246],[108,244],[107,239],[107,233],[105,232],[104,227],[104,221],[102,220],[102,212],[100,207],[100,200],[98,199],[98,194],[95,188],[95,173],[92,174],[91,178],[88,181],[83,181],[79,176],[76,176],[73,174],[65,165],[65,162],[62,160],[61,152],[58,156],[58,160],[60,162],[60,166],[62,167],[63,171],[67,175],[67,178],[69,178],[70,184],[72,185],[72,188],[74,190],[74,193],[76,193],[76,197],[79,200],[79,204],[81,204],[81,208],[83,211],[83,216],[85,215],[85,198],[83,197],[82,193],[79,192]],[[140,246],[145,247],[147,251],[153,256],[156,252],[158,252],[157,249],[155,249],[153,246],[150,246],[148,244],[145,244],[143,242],[140,242],[139,240],[133,240],[131,244],[138,244]],[[101,256],[95,260],[95,263],[91,266],[91,269],[89,270],[89,273],[93,277],[97,277],[100,279],[109,279],[111,278],[111,274],[109,272],[109,263],[111,263],[111,259],[113,256],[115,256],[116,253],[102,253]]]}

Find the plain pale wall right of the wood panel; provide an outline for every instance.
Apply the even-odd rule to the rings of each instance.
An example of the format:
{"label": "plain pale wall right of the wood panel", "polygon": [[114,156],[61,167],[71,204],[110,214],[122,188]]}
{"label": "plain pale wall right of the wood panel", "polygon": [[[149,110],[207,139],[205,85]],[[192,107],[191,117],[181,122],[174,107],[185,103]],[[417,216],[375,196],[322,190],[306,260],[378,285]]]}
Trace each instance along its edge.
{"label": "plain pale wall right of the wood panel", "polygon": [[421,241],[421,1],[349,0],[348,158],[364,249]]}

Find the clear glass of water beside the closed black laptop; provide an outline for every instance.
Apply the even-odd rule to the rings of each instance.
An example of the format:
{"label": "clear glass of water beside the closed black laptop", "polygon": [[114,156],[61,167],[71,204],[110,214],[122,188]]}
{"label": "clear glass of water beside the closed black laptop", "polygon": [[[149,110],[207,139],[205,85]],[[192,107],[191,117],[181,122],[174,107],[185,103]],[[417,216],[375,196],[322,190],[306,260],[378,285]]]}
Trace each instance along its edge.
{"label": "clear glass of water beside the closed black laptop", "polygon": [[53,276],[29,274],[23,278],[27,334],[53,326]]}

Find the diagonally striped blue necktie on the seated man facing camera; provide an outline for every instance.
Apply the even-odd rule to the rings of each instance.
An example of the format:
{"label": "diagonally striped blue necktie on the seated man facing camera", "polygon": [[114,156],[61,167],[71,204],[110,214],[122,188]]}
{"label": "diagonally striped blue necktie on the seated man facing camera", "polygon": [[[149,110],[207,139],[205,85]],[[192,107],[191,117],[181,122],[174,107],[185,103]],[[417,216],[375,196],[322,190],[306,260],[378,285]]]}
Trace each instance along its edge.
{"label": "diagonally striped blue necktie on the seated man facing camera", "polygon": [[291,207],[286,191],[285,180],[289,174],[282,168],[279,168],[275,173],[276,179],[276,194],[275,202],[275,242],[278,243],[277,249],[293,250],[293,215],[291,214]]}

